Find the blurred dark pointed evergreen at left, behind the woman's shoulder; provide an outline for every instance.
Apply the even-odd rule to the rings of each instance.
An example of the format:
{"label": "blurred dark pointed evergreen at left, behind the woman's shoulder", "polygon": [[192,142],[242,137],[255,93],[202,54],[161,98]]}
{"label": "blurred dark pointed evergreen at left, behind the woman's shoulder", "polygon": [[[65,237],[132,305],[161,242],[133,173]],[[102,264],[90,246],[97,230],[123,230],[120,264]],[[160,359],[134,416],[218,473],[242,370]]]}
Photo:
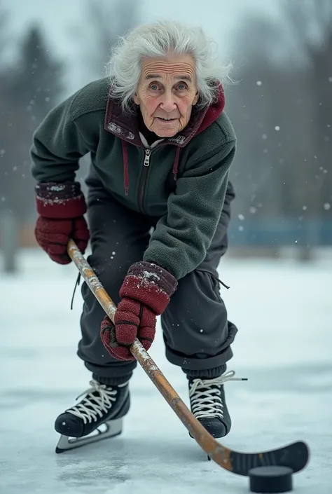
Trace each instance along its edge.
{"label": "blurred dark pointed evergreen at left, behind the woman's shoulder", "polygon": [[19,63],[6,67],[1,87],[0,197],[3,207],[29,221],[35,214],[32,133],[60,98],[62,64],[50,55],[39,27],[27,29],[18,51]]}

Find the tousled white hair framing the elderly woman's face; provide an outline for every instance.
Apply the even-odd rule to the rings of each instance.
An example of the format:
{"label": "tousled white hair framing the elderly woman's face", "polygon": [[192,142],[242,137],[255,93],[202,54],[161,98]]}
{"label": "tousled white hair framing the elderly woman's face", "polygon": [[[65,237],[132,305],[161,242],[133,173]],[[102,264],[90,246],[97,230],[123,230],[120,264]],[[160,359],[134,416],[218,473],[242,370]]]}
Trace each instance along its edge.
{"label": "tousled white hair framing the elderly woman's face", "polygon": [[217,85],[230,82],[231,64],[219,60],[216,43],[200,27],[188,27],[173,21],[157,21],[134,28],[113,46],[106,74],[111,77],[113,97],[123,111],[132,111],[133,97],[141,76],[144,58],[163,58],[170,54],[188,54],[195,62],[195,77],[200,98],[198,107],[216,100]]}

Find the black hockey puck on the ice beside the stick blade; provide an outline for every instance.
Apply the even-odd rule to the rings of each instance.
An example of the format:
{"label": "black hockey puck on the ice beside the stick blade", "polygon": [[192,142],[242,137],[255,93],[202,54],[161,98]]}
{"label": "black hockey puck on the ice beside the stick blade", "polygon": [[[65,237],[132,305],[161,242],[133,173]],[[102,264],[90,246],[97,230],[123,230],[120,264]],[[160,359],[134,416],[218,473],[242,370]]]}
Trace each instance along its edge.
{"label": "black hockey puck on the ice beside the stick blade", "polygon": [[293,488],[293,470],[289,467],[256,467],[249,470],[252,493],[287,493]]}

